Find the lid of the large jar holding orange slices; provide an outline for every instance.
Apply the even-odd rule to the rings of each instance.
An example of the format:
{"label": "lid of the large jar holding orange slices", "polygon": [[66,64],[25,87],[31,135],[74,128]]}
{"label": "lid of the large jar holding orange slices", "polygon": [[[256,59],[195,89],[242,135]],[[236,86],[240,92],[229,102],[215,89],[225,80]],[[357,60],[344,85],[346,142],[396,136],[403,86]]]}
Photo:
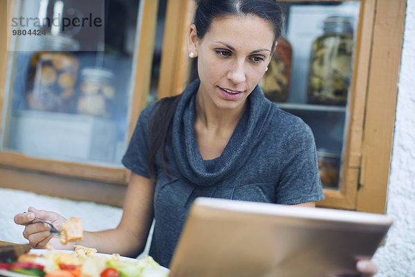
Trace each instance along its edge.
{"label": "lid of the large jar holding orange slices", "polygon": [[41,51],[78,51],[80,43],[66,35],[44,35],[40,41]]}

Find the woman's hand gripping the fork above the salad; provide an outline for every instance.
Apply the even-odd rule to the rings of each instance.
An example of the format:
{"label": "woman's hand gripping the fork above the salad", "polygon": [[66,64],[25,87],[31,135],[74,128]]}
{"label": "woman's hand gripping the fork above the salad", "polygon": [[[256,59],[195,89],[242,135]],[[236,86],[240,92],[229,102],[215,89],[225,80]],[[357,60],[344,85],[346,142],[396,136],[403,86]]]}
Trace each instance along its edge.
{"label": "woman's hand gripping the fork above the salad", "polygon": [[45,248],[46,244],[55,249],[63,249],[59,238],[49,233],[50,226],[42,222],[33,222],[36,218],[50,222],[59,229],[60,224],[66,221],[64,217],[49,211],[37,210],[33,207],[28,208],[28,213],[18,213],[15,215],[15,223],[26,226],[23,231],[23,236],[29,241],[29,244],[35,248]]}

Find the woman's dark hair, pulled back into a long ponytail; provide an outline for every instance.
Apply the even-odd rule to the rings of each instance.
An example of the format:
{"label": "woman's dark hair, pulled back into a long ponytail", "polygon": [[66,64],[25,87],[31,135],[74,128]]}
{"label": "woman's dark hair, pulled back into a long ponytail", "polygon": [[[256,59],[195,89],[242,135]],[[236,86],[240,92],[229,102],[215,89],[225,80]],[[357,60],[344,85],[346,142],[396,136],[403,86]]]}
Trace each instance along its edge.
{"label": "woman's dark hair, pulled back into a long ponytail", "polygon": [[[282,8],[275,0],[200,0],[198,3],[193,23],[196,26],[196,35],[199,39],[203,39],[208,33],[215,19],[228,16],[256,16],[266,20],[274,31],[271,49],[274,49],[275,42],[281,35]],[[169,177],[165,144],[171,140],[171,137],[168,136],[169,127],[180,98],[181,95],[161,99],[158,109],[151,118],[148,129],[149,152],[147,154],[147,166],[151,178],[156,177],[153,163],[157,152],[160,153],[163,170]]]}

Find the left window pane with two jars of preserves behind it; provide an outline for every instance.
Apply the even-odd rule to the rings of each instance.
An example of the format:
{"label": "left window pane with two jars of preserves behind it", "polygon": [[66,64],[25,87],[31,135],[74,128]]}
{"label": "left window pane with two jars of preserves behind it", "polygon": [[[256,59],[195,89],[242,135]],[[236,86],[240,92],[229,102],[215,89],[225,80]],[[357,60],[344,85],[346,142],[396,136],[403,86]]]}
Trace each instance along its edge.
{"label": "left window pane with two jars of preserves behind it", "polygon": [[[88,1],[16,1],[15,17],[88,17]],[[88,2],[89,3],[89,2]],[[105,0],[104,35],[38,27],[42,46],[10,41],[2,150],[29,157],[120,168],[126,148],[140,1]],[[58,19],[59,20],[59,19]],[[20,26],[21,27],[21,26]],[[23,28],[23,27],[21,27]],[[26,40],[25,40],[26,39]],[[95,49],[95,50],[91,50]]]}

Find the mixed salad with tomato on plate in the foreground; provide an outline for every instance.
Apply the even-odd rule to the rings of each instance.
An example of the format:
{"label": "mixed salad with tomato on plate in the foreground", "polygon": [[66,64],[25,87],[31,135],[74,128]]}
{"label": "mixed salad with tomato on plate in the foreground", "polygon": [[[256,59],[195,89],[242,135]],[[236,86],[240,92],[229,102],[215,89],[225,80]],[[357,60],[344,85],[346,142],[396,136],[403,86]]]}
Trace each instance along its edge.
{"label": "mixed salad with tomato on plate in the foreground", "polygon": [[150,256],[135,260],[118,254],[105,255],[95,249],[75,251],[50,249],[41,255],[21,255],[17,262],[0,263],[0,269],[39,277],[167,277],[169,269]]}

